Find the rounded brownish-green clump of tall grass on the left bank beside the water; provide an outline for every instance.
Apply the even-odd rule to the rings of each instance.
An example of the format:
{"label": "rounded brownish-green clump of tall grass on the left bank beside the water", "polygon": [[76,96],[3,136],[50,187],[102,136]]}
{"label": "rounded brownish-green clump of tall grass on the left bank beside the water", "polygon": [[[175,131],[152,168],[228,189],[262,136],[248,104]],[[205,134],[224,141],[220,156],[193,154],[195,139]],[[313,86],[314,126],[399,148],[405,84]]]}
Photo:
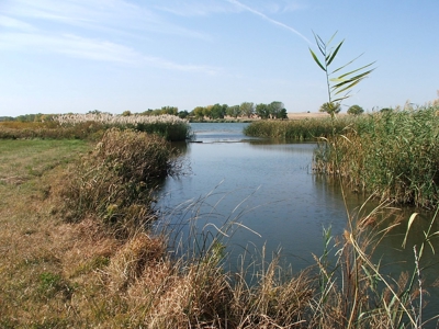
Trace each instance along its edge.
{"label": "rounded brownish-green clump of tall grass on the left bank beside the water", "polygon": [[94,217],[126,238],[154,220],[155,188],[177,172],[177,163],[162,137],[111,128],[66,178],[65,217],[70,222]]}

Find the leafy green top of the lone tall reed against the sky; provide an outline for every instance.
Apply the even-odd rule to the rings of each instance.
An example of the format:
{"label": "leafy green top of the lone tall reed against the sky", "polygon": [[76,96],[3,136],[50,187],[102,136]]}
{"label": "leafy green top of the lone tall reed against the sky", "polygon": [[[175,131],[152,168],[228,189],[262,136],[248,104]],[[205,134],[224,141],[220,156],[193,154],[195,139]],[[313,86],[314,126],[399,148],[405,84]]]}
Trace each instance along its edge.
{"label": "leafy green top of the lone tall reed against the sky", "polygon": [[[374,64],[370,63],[364,65],[358,69],[342,72],[344,69],[357,60],[360,56],[356,57],[348,64],[345,64],[335,70],[329,70],[329,66],[333,64],[334,58],[336,58],[338,52],[341,48],[341,45],[345,41],[341,41],[337,44],[335,48],[330,47],[330,43],[333,42],[334,37],[336,36],[337,32],[330,37],[330,39],[325,43],[317,34],[314,34],[314,38],[316,41],[318,50],[323,55],[323,60],[319,60],[317,55],[309,48],[311,55],[314,58],[314,61],[317,66],[325,71],[326,76],[326,84],[328,90],[328,104],[336,104],[341,102],[342,100],[350,97],[351,89],[359,83],[361,80],[367,78],[374,69],[370,69],[370,67]],[[331,78],[335,73],[337,76]],[[322,107],[320,107],[322,109]],[[330,107],[328,107],[330,110]],[[326,112],[326,111],[325,111]],[[334,116],[337,112],[330,111],[328,112],[331,116]]]}

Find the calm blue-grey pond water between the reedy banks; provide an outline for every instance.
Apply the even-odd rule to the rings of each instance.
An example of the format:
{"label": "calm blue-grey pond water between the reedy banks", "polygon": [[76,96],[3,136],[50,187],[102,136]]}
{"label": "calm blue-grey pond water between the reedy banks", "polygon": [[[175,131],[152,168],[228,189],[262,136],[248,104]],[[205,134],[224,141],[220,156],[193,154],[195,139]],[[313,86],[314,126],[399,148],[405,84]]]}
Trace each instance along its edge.
{"label": "calm blue-grey pond water between the reedy banks", "polygon": [[[347,226],[340,191],[312,173],[314,144],[248,138],[241,133],[245,125],[192,124],[201,143],[181,146],[188,172],[166,180],[158,206],[167,214],[178,242],[202,231],[226,232],[228,237],[223,237],[232,268],[239,254],[246,251],[251,259],[263,246],[268,258],[281,250],[293,270],[314,264],[312,254],[323,253],[323,228],[331,227],[333,235],[340,235]],[[349,194],[349,209],[363,201]],[[399,213],[408,218],[413,211]],[[432,216],[423,215],[419,220],[424,224]],[[239,225],[227,226],[233,222]],[[391,264],[384,268],[389,273],[413,269],[412,247],[406,251],[401,248],[405,227],[402,225],[378,249],[382,263]],[[409,240],[412,245],[419,243],[418,230],[418,238]],[[426,252],[426,259],[437,261],[429,250]],[[438,271],[437,264],[425,271],[427,280],[435,281]],[[429,298],[439,307],[437,291],[431,291]]]}

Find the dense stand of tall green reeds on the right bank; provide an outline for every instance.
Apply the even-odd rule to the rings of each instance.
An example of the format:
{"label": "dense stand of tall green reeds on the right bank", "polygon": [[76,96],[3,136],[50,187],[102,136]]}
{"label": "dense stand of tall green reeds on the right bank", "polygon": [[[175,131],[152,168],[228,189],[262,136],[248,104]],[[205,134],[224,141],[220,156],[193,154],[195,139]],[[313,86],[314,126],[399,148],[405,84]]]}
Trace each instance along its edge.
{"label": "dense stand of tall green reeds on the right bank", "polygon": [[339,170],[345,183],[381,201],[435,207],[439,202],[438,113],[438,106],[426,106],[363,115],[334,137],[337,149],[319,143],[314,168],[325,173]]}

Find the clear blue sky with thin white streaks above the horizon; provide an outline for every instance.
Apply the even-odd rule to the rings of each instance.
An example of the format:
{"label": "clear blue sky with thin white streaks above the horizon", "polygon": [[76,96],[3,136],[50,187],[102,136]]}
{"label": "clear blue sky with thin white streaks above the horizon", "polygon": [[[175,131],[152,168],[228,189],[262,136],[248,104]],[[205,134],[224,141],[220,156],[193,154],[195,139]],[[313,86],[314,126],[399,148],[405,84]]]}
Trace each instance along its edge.
{"label": "clear blue sky with thin white streaks above the horizon", "polygon": [[317,112],[313,31],[346,39],[335,65],[376,60],[345,105],[421,105],[438,98],[438,0],[1,0],[0,116],[272,101]]}

